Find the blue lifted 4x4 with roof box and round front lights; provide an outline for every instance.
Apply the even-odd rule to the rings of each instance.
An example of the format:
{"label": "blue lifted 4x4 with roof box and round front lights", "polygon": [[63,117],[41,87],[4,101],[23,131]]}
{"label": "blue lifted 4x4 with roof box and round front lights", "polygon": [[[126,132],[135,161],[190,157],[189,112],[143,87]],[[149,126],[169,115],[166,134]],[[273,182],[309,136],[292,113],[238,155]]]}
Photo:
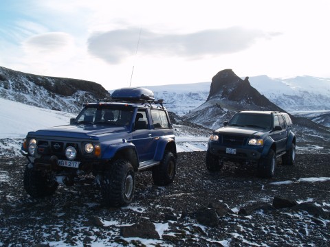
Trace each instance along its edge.
{"label": "blue lifted 4x4 with roof box and round front lights", "polygon": [[132,201],[137,171],[151,170],[155,185],[173,183],[175,136],[162,100],[143,88],[118,89],[111,97],[85,104],[70,125],[28,133],[21,152],[29,161],[24,188],[30,196],[91,178],[103,204],[120,207]]}

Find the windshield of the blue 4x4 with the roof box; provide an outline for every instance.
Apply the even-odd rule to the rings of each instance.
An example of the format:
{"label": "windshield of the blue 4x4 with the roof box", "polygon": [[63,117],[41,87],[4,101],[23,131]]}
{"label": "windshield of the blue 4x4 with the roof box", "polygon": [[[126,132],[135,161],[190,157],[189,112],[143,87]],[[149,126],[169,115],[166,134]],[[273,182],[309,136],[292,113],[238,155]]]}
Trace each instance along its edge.
{"label": "windshield of the blue 4x4 with the roof box", "polygon": [[74,124],[109,124],[129,126],[133,116],[133,108],[114,106],[86,107],[78,115]]}

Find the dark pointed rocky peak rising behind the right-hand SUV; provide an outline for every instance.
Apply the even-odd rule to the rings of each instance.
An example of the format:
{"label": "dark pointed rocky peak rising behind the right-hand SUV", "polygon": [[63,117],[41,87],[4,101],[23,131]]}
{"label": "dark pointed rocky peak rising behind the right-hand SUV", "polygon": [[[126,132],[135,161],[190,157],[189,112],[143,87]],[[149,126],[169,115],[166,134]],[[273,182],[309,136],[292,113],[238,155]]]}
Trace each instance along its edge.
{"label": "dark pointed rocky peak rising behind the right-hand SUV", "polygon": [[242,80],[232,69],[225,69],[212,78],[206,102],[185,115],[184,119],[214,129],[239,110],[285,111],[254,89],[249,78]]}

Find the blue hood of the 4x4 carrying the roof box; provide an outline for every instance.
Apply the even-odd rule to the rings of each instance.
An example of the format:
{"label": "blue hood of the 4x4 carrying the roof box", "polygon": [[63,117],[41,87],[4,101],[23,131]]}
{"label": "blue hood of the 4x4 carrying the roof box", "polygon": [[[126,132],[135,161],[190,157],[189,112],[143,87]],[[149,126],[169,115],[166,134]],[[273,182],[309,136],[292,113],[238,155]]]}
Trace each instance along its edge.
{"label": "blue hood of the 4x4 carrying the roof box", "polygon": [[29,132],[31,135],[37,136],[52,136],[52,137],[73,137],[73,138],[93,138],[100,134],[117,134],[120,132],[127,132],[125,127],[109,126],[109,125],[95,125],[95,124],[79,124],[56,126],[36,132]]}

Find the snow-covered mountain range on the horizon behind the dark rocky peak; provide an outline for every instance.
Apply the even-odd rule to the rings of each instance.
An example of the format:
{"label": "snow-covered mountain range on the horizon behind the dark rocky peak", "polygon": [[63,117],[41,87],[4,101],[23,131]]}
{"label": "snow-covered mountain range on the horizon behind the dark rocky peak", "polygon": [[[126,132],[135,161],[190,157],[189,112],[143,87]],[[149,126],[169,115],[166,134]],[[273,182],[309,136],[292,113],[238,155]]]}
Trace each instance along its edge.
{"label": "snow-covered mountain range on the horizon behind the dark rocky peak", "polygon": [[[281,79],[259,75],[250,77],[249,82],[259,93],[289,113],[330,110],[330,79],[312,76]],[[157,99],[164,99],[169,110],[183,116],[206,102],[210,85],[211,82],[199,82],[146,87],[155,92]]]}

